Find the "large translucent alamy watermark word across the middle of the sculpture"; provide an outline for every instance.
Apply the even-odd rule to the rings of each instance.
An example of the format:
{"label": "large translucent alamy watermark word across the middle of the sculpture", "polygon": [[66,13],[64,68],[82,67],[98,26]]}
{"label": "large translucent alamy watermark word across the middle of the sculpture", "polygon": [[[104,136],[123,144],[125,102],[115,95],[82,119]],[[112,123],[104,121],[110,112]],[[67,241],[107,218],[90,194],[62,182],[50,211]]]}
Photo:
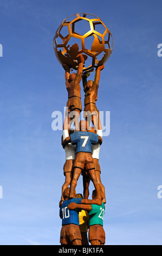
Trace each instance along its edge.
{"label": "large translucent alamy watermark word across the middle of the sculpture", "polygon": [[[67,113],[67,107],[64,107],[64,116],[62,115],[61,111],[54,111],[51,114],[51,118],[54,118],[51,127],[54,131],[62,131],[63,130],[63,123],[66,117],[66,113]],[[89,114],[90,113],[90,114]],[[98,118],[98,114],[99,114],[99,118]],[[90,126],[93,126],[93,115],[95,116],[96,120],[99,120],[99,122],[101,123],[102,126],[102,136],[108,136],[110,133],[110,111],[99,111],[96,114],[96,111],[94,112],[90,112],[90,111],[82,111],[81,112],[81,117],[79,117],[79,121],[80,120],[84,120],[86,116],[88,123],[90,124]],[[75,130],[75,126],[74,123],[76,121],[76,111],[72,111],[69,113],[69,117],[71,119],[70,121],[70,129],[74,129]],[[93,117],[93,118],[92,118]],[[98,126],[98,125],[97,125]],[[90,130],[90,129],[89,129]],[[94,129],[96,130],[96,129]]]}

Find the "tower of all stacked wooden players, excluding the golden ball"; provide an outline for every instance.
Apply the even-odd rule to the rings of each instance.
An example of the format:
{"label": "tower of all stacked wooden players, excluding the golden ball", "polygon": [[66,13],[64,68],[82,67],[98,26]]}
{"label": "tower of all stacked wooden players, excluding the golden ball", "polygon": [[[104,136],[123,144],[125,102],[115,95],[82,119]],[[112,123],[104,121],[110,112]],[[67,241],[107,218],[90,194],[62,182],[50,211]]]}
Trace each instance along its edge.
{"label": "tower of all stacked wooden players, excluding the golden ball", "polygon": [[[63,166],[65,182],[62,186],[59,205],[62,219],[60,243],[61,245],[89,245],[90,242],[91,245],[104,245],[103,215],[106,198],[99,164],[102,126],[95,103],[98,97],[100,72],[104,65],[96,68],[94,81],[87,81],[89,73],[83,72],[85,58],[82,54],[77,55],[76,58],[78,62],[76,74],[70,74],[70,66],[67,64],[62,65],[65,70],[68,101],[62,136],[66,162]],[[85,92],[84,120],[80,120],[81,80]],[[71,129],[73,121],[75,130]],[[91,122],[93,127],[90,126]],[[83,178],[83,196],[76,194],[80,175]],[[94,185],[92,199],[89,199],[90,180]]]}

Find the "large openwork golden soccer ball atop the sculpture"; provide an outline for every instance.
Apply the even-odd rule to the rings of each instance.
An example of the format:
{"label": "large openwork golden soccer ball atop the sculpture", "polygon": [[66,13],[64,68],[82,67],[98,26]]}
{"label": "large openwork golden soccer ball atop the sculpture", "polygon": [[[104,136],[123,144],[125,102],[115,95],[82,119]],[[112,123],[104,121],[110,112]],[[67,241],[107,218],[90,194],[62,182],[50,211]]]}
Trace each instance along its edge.
{"label": "large openwork golden soccer ball atop the sculpture", "polygon": [[54,36],[54,51],[61,64],[77,70],[77,54],[85,57],[84,71],[107,62],[113,50],[111,32],[92,14],[75,14],[65,19]]}

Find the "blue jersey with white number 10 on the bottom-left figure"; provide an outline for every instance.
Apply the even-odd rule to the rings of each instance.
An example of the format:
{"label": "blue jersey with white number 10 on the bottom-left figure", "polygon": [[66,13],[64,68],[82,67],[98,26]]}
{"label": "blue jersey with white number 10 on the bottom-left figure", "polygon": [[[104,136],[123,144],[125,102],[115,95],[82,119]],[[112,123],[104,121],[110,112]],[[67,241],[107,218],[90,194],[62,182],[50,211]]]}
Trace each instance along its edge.
{"label": "blue jersey with white number 10 on the bottom-left figure", "polygon": [[76,203],[76,204],[81,204],[81,198],[72,198],[67,201],[63,201],[63,204],[61,205],[60,208],[60,218],[62,218],[62,225],[67,225],[67,224],[75,224],[79,225],[79,212],[81,210],[69,210],[68,209],[68,204],[70,203]]}

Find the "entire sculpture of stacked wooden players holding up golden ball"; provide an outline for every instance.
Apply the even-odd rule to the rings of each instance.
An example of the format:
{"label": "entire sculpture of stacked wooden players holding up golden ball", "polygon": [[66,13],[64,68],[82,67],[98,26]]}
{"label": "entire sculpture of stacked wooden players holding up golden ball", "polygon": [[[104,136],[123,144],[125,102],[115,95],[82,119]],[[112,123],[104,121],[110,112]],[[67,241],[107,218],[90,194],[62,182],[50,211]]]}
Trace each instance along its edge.
{"label": "entire sculpture of stacked wooden players holding up golden ball", "polygon": [[[83,29],[79,27],[80,23]],[[61,142],[66,152],[66,162],[63,166],[65,181],[59,204],[62,245],[88,245],[88,239],[91,245],[105,245],[103,215],[106,197],[99,164],[102,125],[96,100],[101,70],[112,54],[111,39],[111,32],[99,17],[85,13],[65,19],[54,36],[54,51],[65,70],[68,92]],[[94,69],[94,81],[87,81]],[[77,72],[74,73],[73,70]],[[81,80],[85,92],[85,120],[79,121],[82,111]],[[71,129],[73,121],[75,130]],[[90,127],[91,121],[93,127]],[[83,196],[76,196],[77,180],[81,174]],[[95,188],[92,199],[88,199],[90,180]]]}

